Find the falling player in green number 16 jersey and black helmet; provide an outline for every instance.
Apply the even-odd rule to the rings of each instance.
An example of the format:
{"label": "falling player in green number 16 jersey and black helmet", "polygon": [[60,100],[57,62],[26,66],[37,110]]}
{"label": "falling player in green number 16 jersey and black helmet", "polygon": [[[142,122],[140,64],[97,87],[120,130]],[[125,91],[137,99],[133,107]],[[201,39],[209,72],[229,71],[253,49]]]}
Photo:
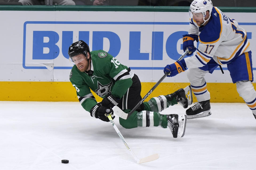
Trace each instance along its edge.
{"label": "falling player in green number 16 jersey and black helmet", "polygon": [[[80,40],[70,45],[68,53],[70,61],[74,64],[69,76],[70,82],[77,91],[80,104],[92,117],[109,122],[105,114],[113,113],[114,106],[128,113],[142,99],[138,76],[107,52],[90,52],[89,46]],[[90,89],[103,98],[100,103],[97,103]],[[183,137],[186,115],[164,115],[159,112],[177,103],[187,108],[192,103],[191,100],[191,96],[188,100],[184,89],[170,95],[153,97],[142,103],[126,120],[119,118],[119,123],[127,129],[138,126],[168,126],[174,138]],[[115,117],[113,114],[111,116]]]}

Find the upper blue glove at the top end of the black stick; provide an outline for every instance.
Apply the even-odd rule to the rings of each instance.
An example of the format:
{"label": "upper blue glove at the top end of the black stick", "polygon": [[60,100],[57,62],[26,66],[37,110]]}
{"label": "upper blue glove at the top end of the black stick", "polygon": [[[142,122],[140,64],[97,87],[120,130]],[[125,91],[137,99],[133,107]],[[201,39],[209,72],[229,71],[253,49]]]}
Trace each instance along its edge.
{"label": "upper blue glove at the top end of the black stick", "polygon": [[187,49],[189,49],[189,52],[187,53],[187,56],[191,56],[197,48],[194,46],[194,41],[198,42],[198,35],[196,34],[186,34],[183,35],[183,51],[185,52]]}

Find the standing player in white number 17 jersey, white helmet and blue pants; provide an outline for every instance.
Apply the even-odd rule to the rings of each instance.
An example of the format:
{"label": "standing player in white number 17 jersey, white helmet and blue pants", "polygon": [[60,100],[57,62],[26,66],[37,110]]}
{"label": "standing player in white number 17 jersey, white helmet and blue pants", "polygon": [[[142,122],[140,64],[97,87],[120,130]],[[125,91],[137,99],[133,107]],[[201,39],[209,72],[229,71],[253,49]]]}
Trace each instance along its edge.
{"label": "standing player in white number 17 jersey, white helmet and blue pants", "polygon": [[[173,77],[187,68],[187,77],[198,103],[186,110],[187,118],[205,117],[211,114],[210,93],[205,81],[206,73],[213,73],[218,65],[227,64],[237,92],[256,118],[256,92],[252,85],[253,71],[251,48],[246,31],[238,22],[229,18],[212,5],[211,0],[194,0],[189,9],[190,28],[183,35],[183,50],[188,56],[164,68]],[[198,48],[194,41],[199,41]],[[195,52],[195,53],[194,53]],[[194,54],[194,55],[193,55]]]}

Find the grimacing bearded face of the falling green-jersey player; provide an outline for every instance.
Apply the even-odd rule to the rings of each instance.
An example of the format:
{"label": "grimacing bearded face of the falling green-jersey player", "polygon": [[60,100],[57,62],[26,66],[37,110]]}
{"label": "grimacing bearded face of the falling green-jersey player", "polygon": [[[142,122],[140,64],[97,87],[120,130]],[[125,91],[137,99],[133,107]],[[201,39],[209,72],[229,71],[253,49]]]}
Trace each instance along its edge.
{"label": "grimacing bearded face of the falling green-jersey player", "polygon": [[[90,54],[87,53],[87,56]],[[89,57],[85,57],[83,54],[78,54],[74,57],[72,57],[72,60],[74,61],[75,65],[77,66],[78,70],[81,72],[87,71],[89,67],[89,61],[87,60]]]}

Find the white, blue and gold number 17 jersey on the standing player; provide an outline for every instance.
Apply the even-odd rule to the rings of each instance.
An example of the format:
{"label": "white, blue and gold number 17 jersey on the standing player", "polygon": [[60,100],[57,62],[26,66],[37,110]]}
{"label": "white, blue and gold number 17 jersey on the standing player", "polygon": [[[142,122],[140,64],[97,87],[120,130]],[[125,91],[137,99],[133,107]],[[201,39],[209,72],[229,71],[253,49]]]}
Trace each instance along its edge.
{"label": "white, blue and gold number 17 jersey on the standing player", "polygon": [[213,7],[209,22],[203,27],[191,19],[189,34],[199,36],[199,45],[194,56],[185,58],[187,68],[202,67],[211,58],[220,65],[227,64],[251,50],[246,31],[217,7]]}

